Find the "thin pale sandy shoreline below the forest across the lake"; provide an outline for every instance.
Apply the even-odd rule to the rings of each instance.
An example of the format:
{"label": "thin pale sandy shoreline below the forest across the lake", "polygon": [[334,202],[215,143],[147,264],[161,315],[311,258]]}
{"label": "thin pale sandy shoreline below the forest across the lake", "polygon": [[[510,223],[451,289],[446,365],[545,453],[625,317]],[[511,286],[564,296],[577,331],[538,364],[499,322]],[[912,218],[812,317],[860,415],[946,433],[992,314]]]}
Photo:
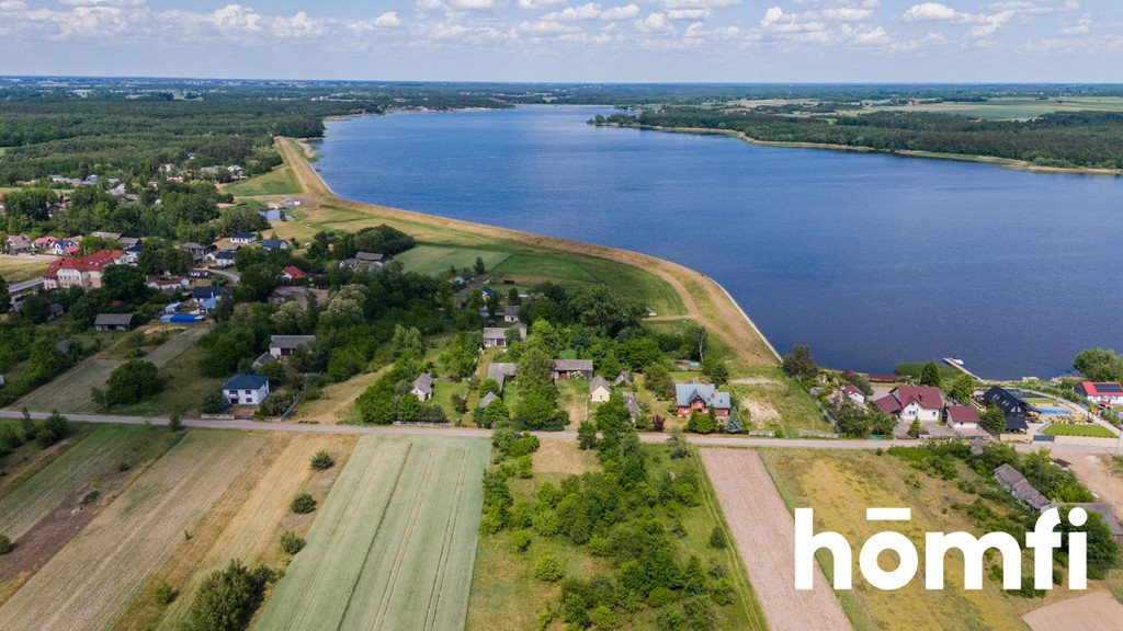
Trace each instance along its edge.
{"label": "thin pale sandy shoreline below the forest across the lake", "polygon": [[911,157],[911,158],[971,162],[977,164],[988,164],[1008,171],[1025,171],[1029,173],[1123,177],[1123,170],[1119,168],[1092,168],[1086,166],[1080,166],[1080,167],[1040,166],[1021,159],[1001,158],[995,156],[983,156],[974,154],[941,154],[937,152],[913,150],[913,149],[909,150],[876,149],[874,147],[832,145],[829,143],[760,140],[749,136],[743,131],[737,131],[734,129],[710,129],[705,127],[663,127],[660,125],[619,125],[615,122],[594,122],[592,125],[595,127],[614,127],[617,129],[639,129],[641,131],[695,134],[699,136],[728,136],[730,138],[737,138],[742,143],[747,143],[749,145],[757,145],[759,147],[788,148],[788,149],[822,149],[822,150],[855,153],[855,154],[883,154],[889,156]]}

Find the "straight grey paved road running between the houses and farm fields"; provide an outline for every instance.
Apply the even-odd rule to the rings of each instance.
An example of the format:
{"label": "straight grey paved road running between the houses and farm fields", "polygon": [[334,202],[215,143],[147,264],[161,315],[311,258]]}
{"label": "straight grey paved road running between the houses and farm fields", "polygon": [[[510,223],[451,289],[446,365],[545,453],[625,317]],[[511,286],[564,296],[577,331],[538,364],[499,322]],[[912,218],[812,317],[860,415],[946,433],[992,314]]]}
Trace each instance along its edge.
{"label": "straight grey paved road running between the houses and farm fields", "polygon": [[[0,410],[0,418],[18,419],[21,412],[16,410]],[[45,412],[31,412],[35,419],[47,417]],[[85,423],[121,423],[140,426],[152,423],[154,426],[166,426],[166,418],[158,417],[117,417],[110,414],[66,414],[72,421]],[[203,420],[184,419],[183,424],[190,428],[200,429],[225,429],[239,431],[289,431],[296,433],[386,433],[400,436],[453,436],[464,438],[490,438],[491,430],[476,428],[426,428],[408,426],[330,426],[330,424],[304,424],[304,423],[277,423],[268,421],[241,421],[241,420]],[[542,440],[576,440],[576,432],[572,431],[540,431],[533,432]],[[663,442],[667,439],[665,433],[641,433],[640,440],[643,442]],[[917,442],[912,440],[832,440],[822,438],[734,438],[731,436],[688,436],[687,439],[700,447],[775,447],[780,449],[853,449],[873,450],[888,447],[915,447]],[[1057,454],[1104,454],[1113,452],[1114,449],[1094,447],[1085,445],[1051,445],[1048,442],[1034,442],[1017,445],[1017,449],[1030,451],[1039,448],[1052,449]]]}

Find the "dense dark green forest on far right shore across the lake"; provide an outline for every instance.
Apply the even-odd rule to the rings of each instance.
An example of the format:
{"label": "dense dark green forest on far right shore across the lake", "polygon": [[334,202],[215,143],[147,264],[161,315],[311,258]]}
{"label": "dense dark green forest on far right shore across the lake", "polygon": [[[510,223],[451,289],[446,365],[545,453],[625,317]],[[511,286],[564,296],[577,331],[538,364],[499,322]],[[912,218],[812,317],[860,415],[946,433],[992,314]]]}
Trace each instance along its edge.
{"label": "dense dark green forest on far right shore across the lake", "polygon": [[1123,168],[1123,113],[1057,112],[1032,120],[976,120],[931,112],[795,117],[772,111],[667,108],[596,122],[628,127],[724,129],[757,140],[818,143],[889,152],[1019,159],[1039,166]]}

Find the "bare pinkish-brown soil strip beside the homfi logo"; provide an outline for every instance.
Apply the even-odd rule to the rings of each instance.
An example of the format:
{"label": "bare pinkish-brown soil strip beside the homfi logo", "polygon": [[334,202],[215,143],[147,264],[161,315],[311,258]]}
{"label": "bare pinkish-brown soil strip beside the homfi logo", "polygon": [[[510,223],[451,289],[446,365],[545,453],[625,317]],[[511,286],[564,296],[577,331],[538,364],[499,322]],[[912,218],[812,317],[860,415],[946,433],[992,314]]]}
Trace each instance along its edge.
{"label": "bare pinkish-brown soil strip beside the homfi logo", "polygon": [[702,449],[700,454],[749,576],[757,577],[754,586],[768,627],[773,631],[849,628],[818,568],[815,589],[795,591],[794,520],[757,454],[748,449]]}

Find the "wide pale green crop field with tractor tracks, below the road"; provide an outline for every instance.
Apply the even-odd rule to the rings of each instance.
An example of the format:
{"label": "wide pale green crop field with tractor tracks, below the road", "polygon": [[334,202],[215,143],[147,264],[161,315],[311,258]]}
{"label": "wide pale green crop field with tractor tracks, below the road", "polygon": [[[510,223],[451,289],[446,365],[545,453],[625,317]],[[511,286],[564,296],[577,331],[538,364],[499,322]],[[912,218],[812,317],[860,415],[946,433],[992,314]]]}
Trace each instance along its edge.
{"label": "wide pale green crop field with tractor tracks, below the road", "polygon": [[463,629],[489,452],[360,439],[256,629]]}

